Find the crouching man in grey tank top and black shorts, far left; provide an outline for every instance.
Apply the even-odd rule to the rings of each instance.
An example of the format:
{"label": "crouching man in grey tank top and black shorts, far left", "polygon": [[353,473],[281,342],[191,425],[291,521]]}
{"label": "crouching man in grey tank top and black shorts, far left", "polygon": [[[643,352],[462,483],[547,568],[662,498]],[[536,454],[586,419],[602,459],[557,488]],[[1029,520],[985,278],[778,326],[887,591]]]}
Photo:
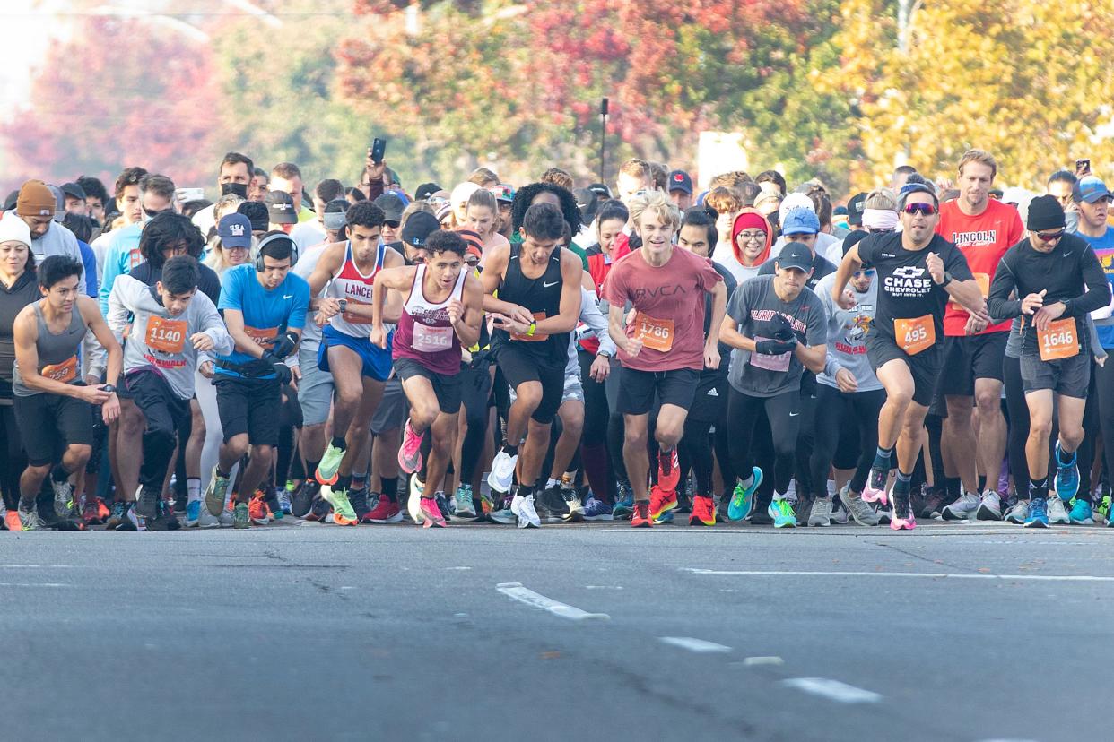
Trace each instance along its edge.
{"label": "crouching man in grey tank top and black shorts, far left", "polygon": [[[41,299],[16,316],[12,328],[16,364],[12,393],[28,465],[19,481],[19,520],[26,531],[45,527],[35,508],[42,483],[50,476],[55,516],[75,514],[69,479],[85,468],[92,453],[92,405],[100,405],[105,424],[120,414],[116,396],[124,352],[105,324],[96,299],[80,286],[84,267],[55,255],[39,266]],[[86,332],[108,353],[107,384],[81,380],[78,350]]]}

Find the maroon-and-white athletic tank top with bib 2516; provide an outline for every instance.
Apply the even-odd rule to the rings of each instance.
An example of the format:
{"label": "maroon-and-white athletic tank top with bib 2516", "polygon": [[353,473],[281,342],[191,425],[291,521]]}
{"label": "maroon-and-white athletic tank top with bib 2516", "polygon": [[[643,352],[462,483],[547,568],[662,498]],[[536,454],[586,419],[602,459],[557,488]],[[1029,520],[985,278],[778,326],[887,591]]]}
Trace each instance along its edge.
{"label": "maroon-and-white athletic tank top with bib 2516", "polygon": [[402,305],[399,328],[394,333],[394,357],[412,358],[434,374],[452,376],[460,372],[460,338],[449,321],[449,301],[457,299],[465,290],[468,270],[461,270],[457,284],[444,301],[433,303],[426,298],[426,266],[418,266],[414,283],[410,287],[407,303]]}

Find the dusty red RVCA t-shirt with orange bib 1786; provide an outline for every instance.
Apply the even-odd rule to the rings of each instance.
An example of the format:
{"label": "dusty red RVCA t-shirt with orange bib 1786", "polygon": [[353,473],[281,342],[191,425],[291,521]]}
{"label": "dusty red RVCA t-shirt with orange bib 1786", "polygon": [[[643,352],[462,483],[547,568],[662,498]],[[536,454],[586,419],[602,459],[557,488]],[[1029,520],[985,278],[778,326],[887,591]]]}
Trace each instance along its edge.
{"label": "dusty red RVCA t-shirt with orange bib 1786", "polygon": [[658,268],[646,263],[641,249],[617,260],[604,281],[604,298],[613,307],[634,305],[627,337],[643,340],[635,358],[618,352],[623,365],[645,372],[702,370],[704,296],[721,280],[710,259],[680,247]]}

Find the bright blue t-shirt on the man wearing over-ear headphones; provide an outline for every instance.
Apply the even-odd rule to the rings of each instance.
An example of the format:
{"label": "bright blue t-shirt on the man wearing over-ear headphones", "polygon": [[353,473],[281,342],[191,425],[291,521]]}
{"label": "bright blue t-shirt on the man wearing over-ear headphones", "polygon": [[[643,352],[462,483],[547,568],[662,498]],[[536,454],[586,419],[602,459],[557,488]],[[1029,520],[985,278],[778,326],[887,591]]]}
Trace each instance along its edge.
{"label": "bright blue t-shirt on the man wearing over-ear headphones", "polygon": [[[256,343],[271,348],[271,342],[287,329],[302,329],[310,309],[310,284],[293,273],[286,274],[272,290],[263,288],[255,273],[255,266],[242,265],[224,274],[221,301],[217,309],[236,309],[244,315],[244,329]],[[257,358],[238,350],[227,356],[218,356],[231,364],[246,364]],[[234,370],[216,367],[218,374],[242,376]],[[260,378],[273,378],[274,375]]]}

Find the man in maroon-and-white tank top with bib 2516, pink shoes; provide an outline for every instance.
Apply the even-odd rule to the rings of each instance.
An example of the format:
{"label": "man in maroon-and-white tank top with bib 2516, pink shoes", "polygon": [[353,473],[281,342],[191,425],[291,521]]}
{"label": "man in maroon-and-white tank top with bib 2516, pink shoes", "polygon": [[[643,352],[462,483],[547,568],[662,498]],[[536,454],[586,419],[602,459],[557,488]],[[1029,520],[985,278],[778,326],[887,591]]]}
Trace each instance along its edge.
{"label": "man in maroon-and-white tank top with bib 2516, pink shoes", "polygon": [[[417,479],[413,489],[420,493],[420,512],[411,516],[416,523],[424,522],[428,528],[444,526],[446,514],[438,507],[437,496],[444,496],[441,484],[456,444],[460,348],[479,340],[483,287],[465,268],[466,244],[456,233],[434,231],[424,240],[424,249],[423,264],[389,268],[375,278],[371,342],[387,349],[389,336],[383,326],[383,307],[387,289],[393,288],[407,297],[392,356],[410,403],[399,466]],[[426,476],[419,479],[426,431],[430,432],[429,456],[424,461]]]}

